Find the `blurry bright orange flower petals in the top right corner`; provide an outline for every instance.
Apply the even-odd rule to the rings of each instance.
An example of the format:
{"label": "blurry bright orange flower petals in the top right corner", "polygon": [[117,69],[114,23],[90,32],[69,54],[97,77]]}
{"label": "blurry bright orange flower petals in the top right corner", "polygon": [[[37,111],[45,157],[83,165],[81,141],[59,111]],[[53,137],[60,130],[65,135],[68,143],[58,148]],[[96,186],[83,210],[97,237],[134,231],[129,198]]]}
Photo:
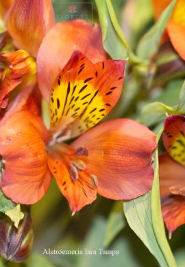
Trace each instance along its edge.
{"label": "blurry bright orange flower petals in the top right corner", "polygon": [[[160,16],[164,8],[171,3],[171,0],[153,0],[153,8],[156,18]],[[185,1],[177,0],[173,14],[167,24],[167,34],[174,49],[185,60]]]}

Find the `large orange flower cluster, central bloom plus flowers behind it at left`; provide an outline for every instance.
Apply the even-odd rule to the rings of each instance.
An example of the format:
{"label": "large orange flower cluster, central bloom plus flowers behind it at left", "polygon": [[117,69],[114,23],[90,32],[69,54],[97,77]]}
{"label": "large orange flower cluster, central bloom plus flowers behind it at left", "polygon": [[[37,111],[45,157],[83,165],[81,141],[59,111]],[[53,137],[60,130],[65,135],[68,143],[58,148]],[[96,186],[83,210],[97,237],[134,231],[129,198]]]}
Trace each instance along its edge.
{"label": "large orange flower cluster, central bloom plus flowers behind it at left", "polygon": [[[97,193],[133,199],[150,190],[155,134],[127,118],[94,127],[119,100],[125,70],[125,60],[107,59],[100,27],[81,20],[54,24],[48,0],[15,0],[5,25],[21,49],[2,55],[5,196],[36,203],[53,176],[75,213]],[[49,129],[42,121],[42,98],[49,103]],[[72,138],[77,139],[65,143]]]}

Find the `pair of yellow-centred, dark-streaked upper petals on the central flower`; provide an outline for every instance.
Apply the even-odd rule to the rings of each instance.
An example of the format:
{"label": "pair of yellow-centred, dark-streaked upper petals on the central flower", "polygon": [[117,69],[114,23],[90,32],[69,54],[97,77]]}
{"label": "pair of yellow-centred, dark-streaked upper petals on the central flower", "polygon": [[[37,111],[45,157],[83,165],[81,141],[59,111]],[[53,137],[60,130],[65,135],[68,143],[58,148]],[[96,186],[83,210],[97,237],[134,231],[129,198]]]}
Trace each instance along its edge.
{"label": "pair of yellow-centred, dark-streaked upper petals on the central flower", "polygon": [[64,139],[64,132],[68,132],[66,139],[74,138],[99,123],[119,100],[124,70],[124,60],[93,65],[75,51],[51,91],[53,137],[62,134]]}

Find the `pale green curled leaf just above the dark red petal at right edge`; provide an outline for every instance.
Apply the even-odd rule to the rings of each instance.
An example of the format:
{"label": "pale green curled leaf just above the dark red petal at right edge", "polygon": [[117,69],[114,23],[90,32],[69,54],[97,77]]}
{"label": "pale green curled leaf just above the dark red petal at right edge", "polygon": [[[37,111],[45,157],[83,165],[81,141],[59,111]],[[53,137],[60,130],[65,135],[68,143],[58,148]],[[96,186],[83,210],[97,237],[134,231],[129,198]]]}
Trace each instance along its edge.
{"label": "pale green curled leaf just above the dark red petal at right edge", "polygon": [[[173,86],[177,86],[176,88],[173,88],[174,92],[177,89],[176,92],[179,92],[179,86],[182,84],[182,81],[180,82],[174,82]],[[173,92],[171,92],[173,94]],[[168,97],[169,91],[167,94],[165,94],[165,97]],[[173,99],[175,99],[175,94],[173,94]],[[182,84],[182,88],[180,90],[180,99],[177,105],[165,105],[162,102],[153,102],[145,105],[143,109],[140,112],[139,121],[140,123],[143,123],[150,127],[151,125],[155,125],[156,123],[160,123],[165,118],[165,114],[184,114],[185,113],[185,81],[184,84]]]}

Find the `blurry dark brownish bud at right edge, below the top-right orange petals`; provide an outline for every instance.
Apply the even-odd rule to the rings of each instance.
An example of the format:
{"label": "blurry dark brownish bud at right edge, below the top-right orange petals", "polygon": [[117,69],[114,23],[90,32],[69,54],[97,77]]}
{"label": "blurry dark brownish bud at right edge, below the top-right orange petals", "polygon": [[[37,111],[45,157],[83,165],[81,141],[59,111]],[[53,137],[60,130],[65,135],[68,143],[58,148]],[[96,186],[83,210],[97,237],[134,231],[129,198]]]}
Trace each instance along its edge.
{"label": "blurry dark brownish bud at right edge, below the top-right orange petals", "polygon": [[156,85],[162,85],[171,79],[184,77],[185,75],[185,61],[175,52],[169,41],[161,45],[155,62],[154,83]]}

